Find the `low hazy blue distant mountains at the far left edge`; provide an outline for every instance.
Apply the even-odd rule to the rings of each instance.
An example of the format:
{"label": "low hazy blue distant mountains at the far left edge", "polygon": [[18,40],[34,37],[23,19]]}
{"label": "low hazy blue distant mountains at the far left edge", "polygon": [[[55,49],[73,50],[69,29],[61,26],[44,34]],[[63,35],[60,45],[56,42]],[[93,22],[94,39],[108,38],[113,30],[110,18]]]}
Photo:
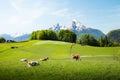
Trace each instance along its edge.
{"label": "low hazy blue distant mountains at the far left edge", "polygon": [[21,35],[11,35],[11,34],[0,34],[0,37],[4,37],[6,40],[14,41],[26,41],[29,40],[30,34],[21,34]]}

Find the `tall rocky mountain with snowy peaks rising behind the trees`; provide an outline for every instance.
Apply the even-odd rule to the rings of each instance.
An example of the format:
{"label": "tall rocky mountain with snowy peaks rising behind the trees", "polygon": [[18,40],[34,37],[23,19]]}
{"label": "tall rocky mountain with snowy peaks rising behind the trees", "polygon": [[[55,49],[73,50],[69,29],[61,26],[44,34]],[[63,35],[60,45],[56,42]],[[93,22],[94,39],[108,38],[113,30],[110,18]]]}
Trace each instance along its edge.
{"label": "tall rocky mountain with snowy peaks rising behind the trees", "polygon": [[77,34],[77,36],[82,35],[82,34],[91,34],[96,39],[99,39],[100,36],[105,36],[105,34],[102,31],[100,31],[98,29],[88,28],[88,27],[82,25],[77,20],[73,20],[68,26],[60,26],[59,24],[57,24],[56,26],[54,25],[53,27],[51,27],[49,29],[54,30],[57,33],[61,29],[71,30],[71,31],[75,32]]}

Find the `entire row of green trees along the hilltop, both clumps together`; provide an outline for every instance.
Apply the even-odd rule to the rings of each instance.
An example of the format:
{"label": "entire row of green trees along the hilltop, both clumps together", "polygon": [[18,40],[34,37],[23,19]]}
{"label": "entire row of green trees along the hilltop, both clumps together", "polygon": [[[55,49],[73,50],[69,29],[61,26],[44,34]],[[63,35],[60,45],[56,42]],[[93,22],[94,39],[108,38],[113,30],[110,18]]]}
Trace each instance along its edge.
{"label": "entire row of green trees along the hilltop, both clumps together", "polygon": [[108,40],[107,36],[101,36],[98,40],[90,34],[83,34],[77,37],[75,32],[70,30],[60,30],[58,33],[53,30],[33,31],[30,36],[30,40],[58,40],[100,47],[118,46],[117,43]]}

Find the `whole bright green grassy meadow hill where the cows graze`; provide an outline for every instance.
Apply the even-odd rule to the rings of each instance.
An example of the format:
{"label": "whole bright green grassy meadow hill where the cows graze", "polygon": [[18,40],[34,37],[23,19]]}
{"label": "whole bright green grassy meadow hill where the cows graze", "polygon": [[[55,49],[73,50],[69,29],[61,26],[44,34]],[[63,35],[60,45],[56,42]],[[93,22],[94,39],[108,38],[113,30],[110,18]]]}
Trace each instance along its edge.
{"label": "whole bright green grassy meadow hill where the cows graze", "polygon": [[[82,60],[72,60],[71,53],[79,54]],[[49,60],[40,61],[43,57]],[[20,62],[22,58],[40,65],[29,68]],[[37,40],[0,44],[0,80],[120,80],[120,47]]]}

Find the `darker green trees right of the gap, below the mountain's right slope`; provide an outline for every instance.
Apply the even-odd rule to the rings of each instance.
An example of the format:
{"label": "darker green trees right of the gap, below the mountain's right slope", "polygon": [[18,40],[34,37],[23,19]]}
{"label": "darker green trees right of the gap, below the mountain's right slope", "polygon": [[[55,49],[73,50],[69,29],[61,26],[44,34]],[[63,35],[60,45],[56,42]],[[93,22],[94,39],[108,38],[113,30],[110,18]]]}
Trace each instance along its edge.
{"label": "darker green trees right of the gap, below the mountain's right slope", "polygon": [[81,45],[90,45],[90,46],[99,46],[99,47],[112,47],[119,46],[119,43],[110,41],[107,36],[101,36],[98,40],[96,40],[90,34],[83,34],[78,37],[77,43]]}

